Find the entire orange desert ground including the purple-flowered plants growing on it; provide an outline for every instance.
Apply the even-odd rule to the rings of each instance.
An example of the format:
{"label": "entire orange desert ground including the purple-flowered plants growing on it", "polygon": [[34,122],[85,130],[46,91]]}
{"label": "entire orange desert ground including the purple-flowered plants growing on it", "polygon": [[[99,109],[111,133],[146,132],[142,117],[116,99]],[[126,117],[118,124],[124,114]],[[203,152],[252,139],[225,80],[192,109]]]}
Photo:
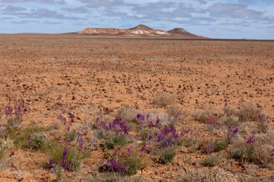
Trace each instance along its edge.
{"label": "entire orange desert ground including the purple-flowered plants growing on it", "polygon": [[4,36],[0,181],[272,180],[269,42]]}

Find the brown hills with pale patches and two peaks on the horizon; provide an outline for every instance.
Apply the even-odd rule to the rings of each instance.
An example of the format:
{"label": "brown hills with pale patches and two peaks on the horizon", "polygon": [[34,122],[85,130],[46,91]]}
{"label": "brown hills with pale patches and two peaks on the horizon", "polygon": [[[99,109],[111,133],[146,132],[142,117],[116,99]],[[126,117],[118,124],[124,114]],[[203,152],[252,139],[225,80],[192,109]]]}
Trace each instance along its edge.
{"label": "brown hills with pale patches and two peaks on the horizon", "polygon": [[137,25],[129,29],[115,29],[115,28],[86,28],[78,31],[75,34],[87,34],[95,36],[126,36],[126,37],[167,37],[167,38],[206,38],[197,36],[182,29],[175,28],[169,31],[162,29],[152,29],[146,25]]}

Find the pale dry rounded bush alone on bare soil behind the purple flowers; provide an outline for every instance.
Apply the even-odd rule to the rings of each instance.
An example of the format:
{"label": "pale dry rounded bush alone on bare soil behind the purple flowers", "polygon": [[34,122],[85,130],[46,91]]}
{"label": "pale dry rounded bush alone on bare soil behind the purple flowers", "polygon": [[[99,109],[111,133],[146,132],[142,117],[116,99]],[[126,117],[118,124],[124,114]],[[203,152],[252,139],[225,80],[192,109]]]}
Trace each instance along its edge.
{"label": "pale dry rounded bush alone on bare soil behind the purple flowers", "polygon": [[153,98],[152,103],[157,107],[166,107],[167,105],[175,103],[176,100],[177,96],[175,94],[160,92]]}

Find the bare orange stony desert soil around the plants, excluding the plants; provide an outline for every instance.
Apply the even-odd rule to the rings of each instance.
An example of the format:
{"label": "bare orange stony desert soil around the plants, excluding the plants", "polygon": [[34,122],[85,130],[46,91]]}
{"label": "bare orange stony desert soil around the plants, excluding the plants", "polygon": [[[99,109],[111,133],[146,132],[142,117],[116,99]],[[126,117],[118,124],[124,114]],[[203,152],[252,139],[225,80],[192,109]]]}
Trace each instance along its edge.
{"label": "bare orange stony desert soil around the plants, excluding the plants", "polygon": [[[16,127],[44,127],[38,133],[64,145],[67,131],[58,115],[75,116],[71,130],[81,133],[84,149],[90,155],[77,170],[62,172],[62,181],[273,180],[273,142],[266,147],[266,166],[259,159],[235,159],[232,150],[234,140],[239,138],[246,141],[255,135],[256,144],[256,137],[274,136],[274,41],[71,34],[3,34],[0,40],[0,132],[3,140],[14,140],[13,147],[6,148],[0,159],[0,181],[60,180],[48,166],[47,148],[22,147],[14,135],[9,135],[10,116],[5,114],[5,108],[13,107],[14,101],[23,103],[24,109]],[[169,93],[175,99],[157,105],[155,97],[160,93]],[[267,131],[260,132],[256,120],[238,121],[240,115],[235,114],[239,131],[233,141],[223,150],[204,152],[204,143],[225,140],[227,136],[227,125],[221,121],[225,107],[238,113],[247,105],[267,116]],[[132,175],[101,172],[98,164],[114,149],[97,138],[100,126],[94,126],[95,120],[113,120],[119,113],[121,116],[121,109],[127,111],[125,108],[140,114],[170,115],[172,109],[177,109],[180,116],[175,117],[176,130],[191,129],[195,142],[192,146],[176,146],[174,159],[166,164],[147,153],[147,164]],[[221,127],[199,120],[197,115],[201,112]],[[140,150],[141,134],[134,129],[138,122],[129,125],[130,139],[125,146]],[[15,135],[21,134],[16,132]],[[212,166],[205,162],[210,156],[219,157]]]}

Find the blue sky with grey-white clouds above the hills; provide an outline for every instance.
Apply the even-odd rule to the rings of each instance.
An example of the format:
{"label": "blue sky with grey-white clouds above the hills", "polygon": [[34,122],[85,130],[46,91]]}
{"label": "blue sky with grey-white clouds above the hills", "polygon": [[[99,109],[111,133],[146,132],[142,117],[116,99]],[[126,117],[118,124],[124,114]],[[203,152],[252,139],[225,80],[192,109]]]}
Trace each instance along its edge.
{"label": "blue sky with grey-white clouds above the hills", "polygon": [[274,39],[274,0],[0,0],[0,33],[181,27],[209,38]]}

